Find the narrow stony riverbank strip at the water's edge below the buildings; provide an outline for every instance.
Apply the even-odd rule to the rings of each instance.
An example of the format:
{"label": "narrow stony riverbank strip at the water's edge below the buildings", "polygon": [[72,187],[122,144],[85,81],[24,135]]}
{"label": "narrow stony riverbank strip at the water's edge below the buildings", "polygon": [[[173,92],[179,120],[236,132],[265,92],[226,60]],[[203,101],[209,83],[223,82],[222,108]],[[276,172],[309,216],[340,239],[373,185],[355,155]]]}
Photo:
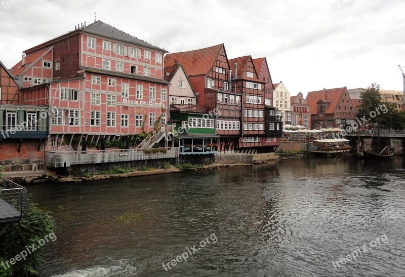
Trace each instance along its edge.
{"label": "narrow stony riverbank strip at the water's edge below the buildings", "polygon": [[241,153],[220,153],[216,161],[211,165],[201,165],[196,168],[181,169],[171,166],[169,169],[150,169],[150,170],[136,170],[127,173],[117,174],[95,174],[89,176],[61,176],[52,170],[47,171],[19,171],[19,172],[4,172],[6,178],[19,183],[82,183],[90,181],[99,181],[106,179],[129,178],[157,174],[178,173],[190,170],[214,170],[223,167],[239,167],[239,166],[252,166],[259,164],[266,164],[270,161],[277,161],[280,157],[275,153],[263,154],[241,154]]}

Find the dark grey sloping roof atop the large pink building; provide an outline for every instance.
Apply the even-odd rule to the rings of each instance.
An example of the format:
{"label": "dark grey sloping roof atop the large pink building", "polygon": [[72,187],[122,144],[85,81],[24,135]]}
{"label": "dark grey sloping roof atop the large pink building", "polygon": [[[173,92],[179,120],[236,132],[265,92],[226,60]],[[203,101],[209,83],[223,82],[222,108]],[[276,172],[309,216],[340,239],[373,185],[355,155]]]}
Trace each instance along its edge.
{"label": "dark grey sloping roof atop the large pink building", "polygon": [[118,30],[117,28],[108,25],[107,23],[104,23],[102,21],[96,21],[89,26],[84,27],[82,30],[88,33],[96,34],[96,35],[101,35],[104,37],[109,37],[113,39],[117,39],[118,41],[123,41],[131,44],[136,44],[138,46],[143,46],[143,47],[148,47],[152,48],[155,50],[163,51],[163,52],[168,52],[164,49],[161,49],[157,46],[151,45],[150,43],[147,43],[145,41],[142,41],[142,39],[139,39],[135,36],[130,35],[129,33],[126,33],[124,31]]}

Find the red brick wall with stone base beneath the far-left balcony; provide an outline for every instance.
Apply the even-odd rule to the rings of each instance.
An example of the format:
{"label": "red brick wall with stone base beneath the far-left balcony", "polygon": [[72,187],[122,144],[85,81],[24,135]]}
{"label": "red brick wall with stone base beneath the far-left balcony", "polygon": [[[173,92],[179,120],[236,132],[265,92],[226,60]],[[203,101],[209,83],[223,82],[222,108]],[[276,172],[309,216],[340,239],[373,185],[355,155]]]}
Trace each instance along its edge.
{"label": "red brick wall with stone base beneath the far-left balcony", "polygon": [[6,140],[0,143],[0,165],[9,171],[34,171],[45,168],[45,140],[41,141],[38,151],[38,140],[23,140],[18,152],[19,140]]}

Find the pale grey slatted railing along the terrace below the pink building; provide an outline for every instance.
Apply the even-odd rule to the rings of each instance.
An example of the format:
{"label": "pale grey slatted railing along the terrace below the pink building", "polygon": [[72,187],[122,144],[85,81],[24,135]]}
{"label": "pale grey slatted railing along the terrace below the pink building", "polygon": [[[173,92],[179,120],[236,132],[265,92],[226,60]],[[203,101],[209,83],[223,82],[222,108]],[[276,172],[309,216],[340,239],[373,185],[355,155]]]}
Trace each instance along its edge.
{"label": "pale grey slatted railing along the terrace below the pink building", "polygon": [[[172,159],[179,152],[178,147],[165,148],[166,152],[146,153],[145,149],[107,149],[84,151],[47,152],[47,165],[61,168],[71,165],[101,164],[156,159]],[[177,151],[177,152],[176,152]]]}

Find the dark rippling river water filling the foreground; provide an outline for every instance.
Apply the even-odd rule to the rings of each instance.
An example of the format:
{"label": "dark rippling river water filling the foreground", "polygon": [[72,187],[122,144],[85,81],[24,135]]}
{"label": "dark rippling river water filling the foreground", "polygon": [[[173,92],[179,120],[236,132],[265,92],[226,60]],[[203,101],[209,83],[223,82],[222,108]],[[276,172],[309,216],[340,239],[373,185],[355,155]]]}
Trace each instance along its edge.
{"label": "dark rippling river water filling the foreground", "polygon": [[404,168],[304,159],[29,185],[58,225],[41,273],[404,276]]}

